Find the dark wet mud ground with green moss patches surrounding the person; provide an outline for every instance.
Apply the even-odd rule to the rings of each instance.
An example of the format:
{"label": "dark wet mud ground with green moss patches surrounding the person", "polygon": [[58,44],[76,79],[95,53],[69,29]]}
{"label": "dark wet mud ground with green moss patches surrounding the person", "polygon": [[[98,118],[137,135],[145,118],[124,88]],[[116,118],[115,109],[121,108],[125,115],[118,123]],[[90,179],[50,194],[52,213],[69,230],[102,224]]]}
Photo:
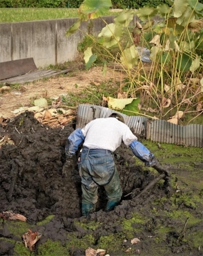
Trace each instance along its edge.
{"label": "dark wet mud ground with green moss patches surrounding the person", "polygon": [[[42,127],[31,113],[0,127],[0,135],[15,143],[0,149],[1,211],[27,217],[26,223],[0,219],[0,255],[84,256],[88,247],[110,256],[203,255],[203,149],[163,144],[162,150],[142,140],[171,170],[172,189],[167,194],[161,179],[136,198],[158,173],[121,146],[115,154],[121,204],[104,212],[107,200],[100,188],[96,212],[85,218],[77,165],[71,181],[61,176],[64,144],[72,131]],[[28,229],[43,234],[32,253],[21,240]],[[131,244],[133,238],[139,243]]]}

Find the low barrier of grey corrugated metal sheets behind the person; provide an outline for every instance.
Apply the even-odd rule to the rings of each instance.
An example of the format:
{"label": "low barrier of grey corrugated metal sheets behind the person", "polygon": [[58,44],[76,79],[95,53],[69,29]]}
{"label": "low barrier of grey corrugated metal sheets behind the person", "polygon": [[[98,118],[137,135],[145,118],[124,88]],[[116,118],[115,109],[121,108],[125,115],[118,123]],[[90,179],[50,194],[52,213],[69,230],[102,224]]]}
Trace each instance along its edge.
{"label": "low barrier of grey corrugated metal sheets behind the person", "polygon": [[164,120],[149,120],[141,116],[126,116],[107,107],[90,104],[80,104],[78,107],[77,128],[83,128],[95,118],[106,118],[112,113],[121,114],[125,124],[135,134],[142,134],[146,139],[155,142],[172,143],[176,145],[203,147],[203,125],[190,124],[180,126]]}

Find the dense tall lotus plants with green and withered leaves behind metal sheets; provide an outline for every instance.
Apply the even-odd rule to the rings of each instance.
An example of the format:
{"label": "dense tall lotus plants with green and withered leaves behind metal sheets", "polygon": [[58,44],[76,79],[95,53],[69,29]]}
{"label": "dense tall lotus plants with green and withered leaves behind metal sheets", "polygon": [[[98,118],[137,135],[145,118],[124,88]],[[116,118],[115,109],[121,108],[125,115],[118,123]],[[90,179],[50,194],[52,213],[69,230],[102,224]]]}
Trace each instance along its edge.
{"label": "dense tall lotus plants with green and withered leaves behind metal sheets", "polygon": [[[67,36],[80,30],[82,21],[100,17],[106,24],[101,33],[97,37],[86,33],[94,42],[84,51],[86,69],[99,58],[105,74],[111,59],[127,77],[119,86],[119,99],[106,99],[108,107],[128,115],[144,110],[156,113],[156,118],[172,117],[170,121],[177,124],[187,113],[194,112],[196,117],[203,113],[203,4],[197,0],[168,2],[157,8],[123,10],[114,23],[107,24],[102,15],[111,1],[85,0]],[[132,24],[134,15],[140,20],[136,24]],[[148,68],[142,61],[143,49],[150,55]]]}

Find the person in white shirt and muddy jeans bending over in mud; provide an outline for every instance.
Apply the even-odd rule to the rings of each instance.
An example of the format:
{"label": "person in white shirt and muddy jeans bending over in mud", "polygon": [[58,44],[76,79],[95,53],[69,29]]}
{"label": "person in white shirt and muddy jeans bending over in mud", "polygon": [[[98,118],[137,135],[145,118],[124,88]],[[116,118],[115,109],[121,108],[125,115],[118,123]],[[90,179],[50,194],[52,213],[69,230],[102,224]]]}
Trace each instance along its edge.
{"label": "person in white shirt and muddy jeans bending over in mud", "polygon": [[[88,216],[95,211],[98,186],[104,186],[107,194],[106,211],[111,211],[119,204],[122,196],[118,171],[115,167],[113,152],[121,142],[131,148],[133,154],[148,167],[159,165],[154,154],[137,141],[124,118],[117,113],[108,118],[97,118],[84,128],[76,129],[67,138],[65,147],[66,163],[63,174],[73,168],[73,156],[78,146],[83,143],[81,159],[78,163],[82,183],[82,215]],[[167,174],[167,173],[166,173]]]}

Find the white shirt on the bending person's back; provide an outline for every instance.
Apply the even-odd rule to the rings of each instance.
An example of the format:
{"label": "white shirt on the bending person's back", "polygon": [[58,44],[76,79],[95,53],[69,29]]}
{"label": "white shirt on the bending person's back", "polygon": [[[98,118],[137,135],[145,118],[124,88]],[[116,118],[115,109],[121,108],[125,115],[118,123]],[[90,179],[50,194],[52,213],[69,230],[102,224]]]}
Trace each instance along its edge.
{"label": "white shirt on the bending person's back", "polygon": [[84,146],[89,149],[108,149],[114,152],[124,142],[129,146],[137,137],[128,125],[114,117],[97,118],[90,121],[83,129]]}

